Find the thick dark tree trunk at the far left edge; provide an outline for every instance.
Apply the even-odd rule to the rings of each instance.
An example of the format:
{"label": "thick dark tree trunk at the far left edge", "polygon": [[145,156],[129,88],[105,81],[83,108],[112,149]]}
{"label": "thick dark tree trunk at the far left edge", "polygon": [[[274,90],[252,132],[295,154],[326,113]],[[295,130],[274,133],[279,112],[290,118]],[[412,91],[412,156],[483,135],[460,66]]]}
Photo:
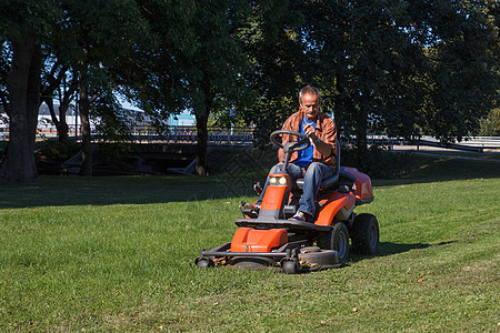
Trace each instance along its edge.
{"label": "thick dark tree trunk at the far left edge", "polygon": [[41,47],[36,36],[21,33],[12,42],[12,65],[7,78],[9,91],[9,149],[0,171],[4,181],[34,181],[34,139],[41,87]]}

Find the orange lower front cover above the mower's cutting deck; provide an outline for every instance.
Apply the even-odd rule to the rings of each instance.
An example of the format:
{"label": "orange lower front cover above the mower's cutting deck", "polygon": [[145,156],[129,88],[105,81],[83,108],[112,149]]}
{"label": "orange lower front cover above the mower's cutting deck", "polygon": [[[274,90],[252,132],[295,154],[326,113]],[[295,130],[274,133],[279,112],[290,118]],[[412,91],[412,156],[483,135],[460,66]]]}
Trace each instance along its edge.
{"label": "orange lower front cover above the mower's cutting deck", "polygon": [[286,229],[239,228],[232,238],[231,252],[271,252],[286,243],[288,243]]}

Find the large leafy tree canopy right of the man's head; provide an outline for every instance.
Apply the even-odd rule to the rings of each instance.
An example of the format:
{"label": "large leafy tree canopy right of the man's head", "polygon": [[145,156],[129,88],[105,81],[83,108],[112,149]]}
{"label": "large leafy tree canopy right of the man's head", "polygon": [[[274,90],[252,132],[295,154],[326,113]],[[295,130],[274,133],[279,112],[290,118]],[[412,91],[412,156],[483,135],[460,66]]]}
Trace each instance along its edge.
{"label": "large leafy tree canopy right of the man's head", "polygon": [[[443,141],[478,129],[498,90],[494,1],[293,1],[306,17],[302,81],[332,95],[342,133]],[[496,58],[497,54],[497,58]]]}

